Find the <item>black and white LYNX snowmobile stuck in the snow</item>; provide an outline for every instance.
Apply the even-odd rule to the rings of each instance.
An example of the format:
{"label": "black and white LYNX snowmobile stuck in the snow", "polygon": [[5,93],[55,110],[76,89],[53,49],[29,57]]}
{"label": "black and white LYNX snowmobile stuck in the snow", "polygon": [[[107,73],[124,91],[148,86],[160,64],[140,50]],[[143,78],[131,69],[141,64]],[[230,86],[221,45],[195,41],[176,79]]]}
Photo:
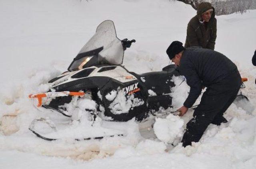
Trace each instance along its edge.
{"label": "black and white LYNX snowmobile stuck in the snow", "polygon": [[[40,117],[32,121],[29,130],[44,140],[58,140],[67,133],[73,134],[72,138],[75,140],[124,136],[124,132],[106,128],[108,124],[105,124],[105,128],[102,128],[104,125],[98,126],[100,136],[85,136],[84,133],[93,126],[97,118],[105,123],[126,122],[132,118],[140,122],[155,115],[160,109],[172,108],[171,88],[175,86],[172,77],[180,76],[180,73],[175,65],[168,65],[162,71],[140,75],[128,71],[122,65],[124,51],[134,42],[134,39],[118,39],[112,21],[102,22],[76,55],[68,71],[51,79],[48,82],[50,89],[46,93],[29,95],[29,98],[38,99],[38,107],[59,112],[67,118],[74,118],[74,108],[80,108],[83,113],[89,114],[86,118],[92,123],[82,123],[86,120],[79,115],[75,120],[76,124],[72,124],[73,127],[57,130],[52,120]],[[87,102],[82,102],[81,106],[79,100]],[[92,100],[95,106],[92,106]],[[71,109],[70,104],[73,106]],[[40,128],[36,127],[40,122],[50,127],[50,134],[36,130]],[[95,128],[92,130],[95,131]]]}

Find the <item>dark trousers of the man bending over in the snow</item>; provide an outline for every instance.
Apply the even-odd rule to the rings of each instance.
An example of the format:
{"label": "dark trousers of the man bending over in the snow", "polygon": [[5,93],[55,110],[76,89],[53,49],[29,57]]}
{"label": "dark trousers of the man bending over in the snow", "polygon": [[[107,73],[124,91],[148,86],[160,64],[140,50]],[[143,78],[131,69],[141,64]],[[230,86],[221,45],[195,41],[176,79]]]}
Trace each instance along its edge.
{"label": "dark trousers of the man bending over in the snow", "polygon": [[240,85],[241,77],[238,70],[235,70],[218,83],[208,86],[193,118],[187,123],[182,138],[184,147],[191,145],[192,141],[198,142],[210,123],[222,119],[224,112],[235,100]]}

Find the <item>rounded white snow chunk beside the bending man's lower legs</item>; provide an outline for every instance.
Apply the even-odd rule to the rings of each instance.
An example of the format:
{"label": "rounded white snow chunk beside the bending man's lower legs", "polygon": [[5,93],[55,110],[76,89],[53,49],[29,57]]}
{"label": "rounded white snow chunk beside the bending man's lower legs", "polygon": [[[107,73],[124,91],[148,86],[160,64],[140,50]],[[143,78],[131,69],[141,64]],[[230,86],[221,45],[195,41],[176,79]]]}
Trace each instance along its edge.
{"label": "rounded white snow chunk beside the bending man's lower legs", "polygon": [[154,124],[154,132],[156,137],[164,143],[174,143],[178,138],[182,137],[184,120],[180,116],[170,114],[163,118],[156,118]]}

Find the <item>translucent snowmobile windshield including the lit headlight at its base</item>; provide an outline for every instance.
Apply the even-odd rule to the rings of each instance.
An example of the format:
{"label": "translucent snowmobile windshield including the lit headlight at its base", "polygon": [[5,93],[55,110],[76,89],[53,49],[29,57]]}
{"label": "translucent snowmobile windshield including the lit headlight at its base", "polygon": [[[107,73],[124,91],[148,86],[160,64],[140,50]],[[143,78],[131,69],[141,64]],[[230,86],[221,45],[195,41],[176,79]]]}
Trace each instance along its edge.
{"label": "translucent snowmobile windshield including the lit headlight at its base", "polygon": [[114,23],[106,20],[97,27],[96,33],[82,47],[68,71],[103,64],[120,65],[123,57],[124,49],[121,40],[116,37]]}

